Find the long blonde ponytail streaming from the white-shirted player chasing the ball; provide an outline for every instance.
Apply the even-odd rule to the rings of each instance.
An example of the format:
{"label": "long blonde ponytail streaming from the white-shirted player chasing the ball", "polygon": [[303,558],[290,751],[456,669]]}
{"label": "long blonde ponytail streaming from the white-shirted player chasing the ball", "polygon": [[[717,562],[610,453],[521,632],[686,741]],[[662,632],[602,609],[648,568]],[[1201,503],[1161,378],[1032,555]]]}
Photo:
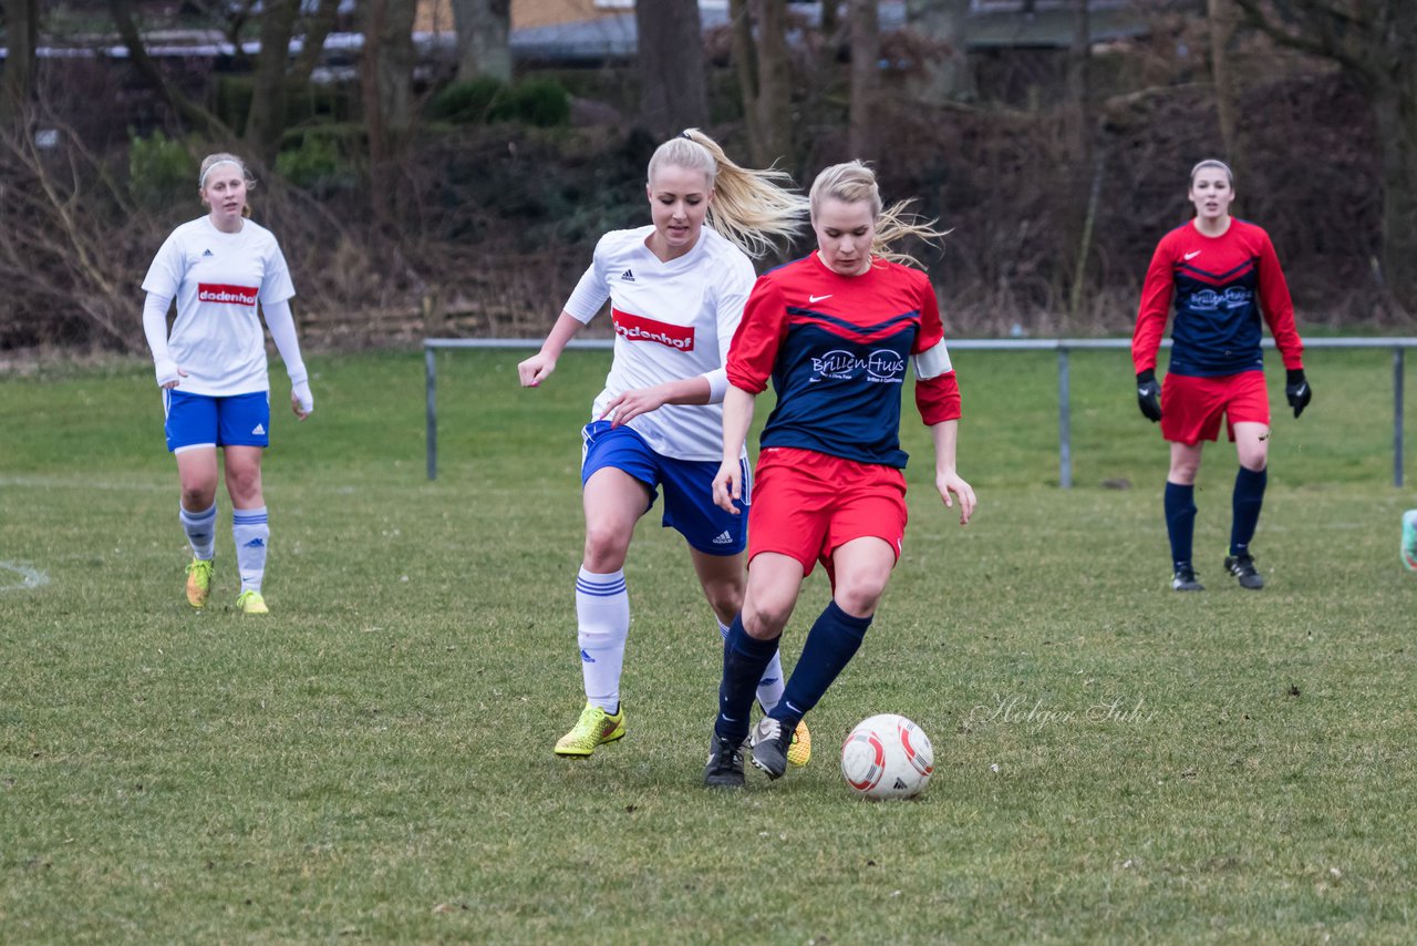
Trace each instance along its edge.
{"label": "long blonde ponytail streaming from the white-shirted player chasing the ball", "polygon": [[791,190],[791,174],[777,167],[741,167],[697,128],[655,149],[649,180],[653,182],[655,173],[666,165],[704,174],[713,191],[708,226],[754,260],[777,250],[778,241],[791,241],[806,223],[808,200]]}

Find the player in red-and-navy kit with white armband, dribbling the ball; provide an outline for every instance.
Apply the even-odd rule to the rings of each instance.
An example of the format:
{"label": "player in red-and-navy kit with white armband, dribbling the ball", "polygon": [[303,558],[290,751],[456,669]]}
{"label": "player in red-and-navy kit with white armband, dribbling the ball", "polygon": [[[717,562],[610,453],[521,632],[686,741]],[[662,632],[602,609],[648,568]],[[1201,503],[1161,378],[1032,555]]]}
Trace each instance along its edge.
{"label": "player in red-and-navy kit with white armband, dribbling the ball", "polygon": [[862,645],[905,535],[905,452],[900,386],[915,372],[915,406],[935,448],[935,488],[959,501],[965,525],[973,489],[955,472],[959,387],[945,349],[930,278],[890,245],[942,235],[881,211],[876,174],[860,162],[828,167],[812,184],[818,250],[752,286],[728,352],[723,461],[714,502],[747,505],[738,464],[757,394],[772,379],[778,404],[762,431],[748,506],[748,590],[724,641],[718,716],[704,783],[743,786],[752,685],[777,660],[778,638],[802,579],[826,567],[832,600],[808,633],[777,706],[752,729],[752,764],[777,779],[791,733]]}

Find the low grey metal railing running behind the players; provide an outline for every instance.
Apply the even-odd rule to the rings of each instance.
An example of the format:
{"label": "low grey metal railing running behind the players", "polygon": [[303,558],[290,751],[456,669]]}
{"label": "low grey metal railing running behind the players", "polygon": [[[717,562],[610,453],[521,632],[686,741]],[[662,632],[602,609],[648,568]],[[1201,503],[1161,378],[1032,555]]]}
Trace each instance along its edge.
{"label": "low grey metal railing running behind the players", "polygon": [[[611,349],[614,339],[572,339],[571,349]],[[1073,406],[1071,366],[1074,350],[1131,349],[1131,339],[951,339],[956,352],[1057,352],[1058,356],[1058,485],[1073,486]],[[1264,347],[1274,347],[1264,339]],[[1170,347],[1170,339],[1162,342]],[[438,363],[439,349],[538,349],[540,339],[424,339],[424,365],[428,383],[428,478],[438,478]],[[1404,353],[1417,347],[1417,338],[1340,338],[1304,339],[1309,349],[1390,349],[1393,353],[1393,485],[1403,485],[1403,382]]]}

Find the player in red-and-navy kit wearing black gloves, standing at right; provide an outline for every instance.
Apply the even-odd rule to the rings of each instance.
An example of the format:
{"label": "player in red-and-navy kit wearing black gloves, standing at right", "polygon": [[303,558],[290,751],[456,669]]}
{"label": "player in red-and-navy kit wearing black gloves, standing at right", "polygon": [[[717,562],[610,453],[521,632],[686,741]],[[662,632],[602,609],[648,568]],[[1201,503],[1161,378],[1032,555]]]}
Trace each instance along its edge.
{"label": "player in red-and-navy kit wearing black gloves, standing at right", "polygon": [[[1284,389],[1294,416],[1314,396],[1304,377],[1304,343],[1294,328],[1294,304],[1270,234],[1230,216],[1234,176],[1219,160],[1190,169],[1196,217],[1156,245],[1132,335],[1136,401],[1170,443],[1166,474],[1166,532],[1176,591],[1203,591],[1190,559],[1196,523],[1195,482],[1202,441],[1220,434],[1220,416],[1240,457],[1236,474],[1230,555],[1226,572],[1243,589],[1263,589],[1250,540],[1260,522],[1268,479],[1270,396],[1264,389],[1260,316],[1284,359]],[[1170,367],[1165,390],[1156,382],[1156,349],[1172,298]]]}

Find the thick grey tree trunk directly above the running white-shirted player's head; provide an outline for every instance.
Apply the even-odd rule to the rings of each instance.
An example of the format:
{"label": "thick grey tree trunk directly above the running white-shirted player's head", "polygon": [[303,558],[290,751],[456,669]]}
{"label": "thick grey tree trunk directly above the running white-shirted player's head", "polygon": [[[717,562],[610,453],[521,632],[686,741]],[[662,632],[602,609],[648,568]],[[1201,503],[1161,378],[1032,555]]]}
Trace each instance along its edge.
{"label": "thick grey tree trunk directly above the running white-shirted player's head", "polygon": [[699,0],[635,4],[639,119],[655,135],[708,122]]}

